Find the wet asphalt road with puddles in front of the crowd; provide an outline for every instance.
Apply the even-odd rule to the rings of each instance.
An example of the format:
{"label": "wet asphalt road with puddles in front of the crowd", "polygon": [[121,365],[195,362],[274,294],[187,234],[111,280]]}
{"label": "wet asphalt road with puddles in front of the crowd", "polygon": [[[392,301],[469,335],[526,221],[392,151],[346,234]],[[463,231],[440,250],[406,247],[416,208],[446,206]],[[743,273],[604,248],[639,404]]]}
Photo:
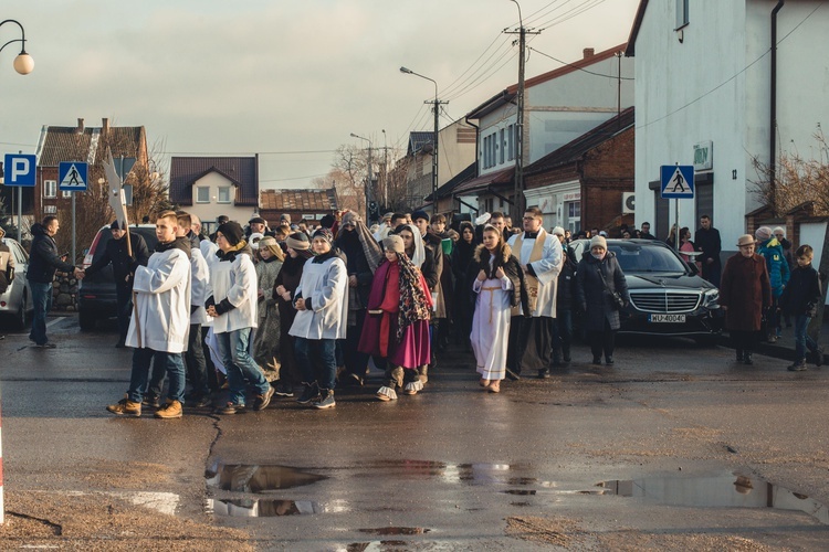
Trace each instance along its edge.
{"label": "wet asphalt road with puddles in front of the crowd", "polygon": [[[790,330],[789,330],[790,331]],[[0,340],[0,548],[228,550],[825,549],[827,372],[681,339],[585,347],[549,380],[427,389],[330,411],[118,418],[130,354],[51,320],[57,349]],[[67,498],[70,497],[71,500]],[[144,506],[137,506],[144,505]],[[144,529],[143,529],[144,528]]]}

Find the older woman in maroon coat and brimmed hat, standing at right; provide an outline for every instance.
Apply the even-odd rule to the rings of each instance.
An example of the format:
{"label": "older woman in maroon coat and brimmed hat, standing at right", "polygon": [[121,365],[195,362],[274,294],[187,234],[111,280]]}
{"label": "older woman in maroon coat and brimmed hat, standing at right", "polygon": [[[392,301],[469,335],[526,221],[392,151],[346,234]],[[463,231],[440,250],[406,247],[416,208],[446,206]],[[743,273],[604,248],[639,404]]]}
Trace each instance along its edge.
{"label": "older woman in maroon coat and brimmed hat, standing at right", "polygon": [[754,236],[739,236],[739,253],[725,263],[720,283],[720,306],[725,327],[737,350],[737,362],[753,364],[752,351],[759,337],[763,315],[772,306],[772,284],[766,259],[754,253]]}

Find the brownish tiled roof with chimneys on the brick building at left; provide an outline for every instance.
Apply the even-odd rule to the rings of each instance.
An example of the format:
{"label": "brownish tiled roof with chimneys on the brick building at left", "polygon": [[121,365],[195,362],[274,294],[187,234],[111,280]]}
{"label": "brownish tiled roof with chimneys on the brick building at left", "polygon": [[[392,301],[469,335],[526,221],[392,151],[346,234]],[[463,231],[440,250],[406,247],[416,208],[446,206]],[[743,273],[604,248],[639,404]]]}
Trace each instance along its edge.
{"label": "brownish tiled roof with chimneys on the brick building at left", "polygon": [[[39,167],[57,167],[61,161],[92,161],[106,155],[102,145],[102,128],[86,127],[78,132],[76,127],[44,128],[43,147],[38,159]],[[109,145],[113,157],[141,157],[141,134],[144,127],[109,127],[106,144]],[[95,148],[95,158],[88,159],[90,148]]]}

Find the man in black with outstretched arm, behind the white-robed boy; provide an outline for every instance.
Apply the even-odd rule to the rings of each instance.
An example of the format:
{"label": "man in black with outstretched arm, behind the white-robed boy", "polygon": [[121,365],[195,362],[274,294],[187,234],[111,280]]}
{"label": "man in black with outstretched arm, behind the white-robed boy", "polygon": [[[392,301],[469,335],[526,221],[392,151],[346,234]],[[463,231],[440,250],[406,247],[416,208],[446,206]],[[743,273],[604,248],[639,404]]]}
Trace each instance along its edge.
{"label": "man in black with outstretched arm, behind the white-robed boy", "polygon": [[113,232],[113,238],[106,242],[104,254],[84,270],[85,276],[91,276],[112,263],[113,278],[115,279],[115,304],[118,314],[118,342],[115,347],[124,347],[129,329],[129,317],[133,312],[133,279],[135,269],[138,266],[147,266],[149,261],[149,250],[147,242],[144,241],[137,232],[129,232],[129,245],[132,246],[132,256],[127,247],[127,231],[118,226],[118,221],[114,221],[109,229]]}

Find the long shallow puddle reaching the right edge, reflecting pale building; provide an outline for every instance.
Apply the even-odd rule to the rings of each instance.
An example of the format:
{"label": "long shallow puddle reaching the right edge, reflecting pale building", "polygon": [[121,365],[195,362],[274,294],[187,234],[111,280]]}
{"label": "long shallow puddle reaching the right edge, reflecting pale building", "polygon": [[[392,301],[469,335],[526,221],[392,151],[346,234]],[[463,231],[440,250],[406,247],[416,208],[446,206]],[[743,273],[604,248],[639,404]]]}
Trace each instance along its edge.
{"label": "long shallow puddle reaching the right edge, reflecting pale building", "polygon": [[817,500],[739,474],[713,477],[650,477],[602,481],[609,495],[650,499],[670,506],[799,510],[829,524],[829,510]]}

